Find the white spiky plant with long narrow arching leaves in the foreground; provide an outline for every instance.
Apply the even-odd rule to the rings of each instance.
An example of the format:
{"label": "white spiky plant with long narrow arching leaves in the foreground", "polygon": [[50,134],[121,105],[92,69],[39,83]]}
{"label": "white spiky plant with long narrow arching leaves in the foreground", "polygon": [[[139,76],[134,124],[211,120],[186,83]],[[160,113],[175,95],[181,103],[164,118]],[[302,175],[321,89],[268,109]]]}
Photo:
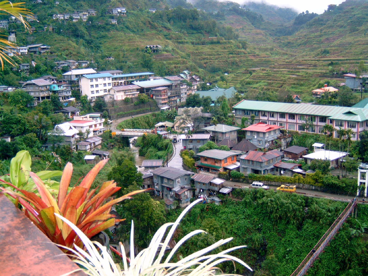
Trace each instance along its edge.
{"label": "white spiky plant with long narrow arching leaves in the foreground", "polygon": [[[109,251],[106,247],[101,245],[96,241],[91,241],[85,234],[78,229],[74,224],[68,221],[66,218],[55,213],[56,216],[60,217],[60,219],[64,220],[69,226],[78,234],[79,238],[84,243],[86,251],[84,251],[81,247],[74,245],[75,249],[71,251],[77,256],[74,259],[74,262],[77,263],[84,269],[84,272],[87,275],[111,275],[111,276],[212,276],[212,275],[235,275],[235,274],[221,274],[221,270],[216,266],[219,263],[225,261],[232,261],[235,265],[235,262],[240,263],[245,266],[249,270],[252,271],[250,266],[248,266],[241,259],[238,259],[234,256],[228,255],[229,252],[237,250],[239,248],[244,248],[246,245],[232,247],[226,250],[223,250],[217,254],[209,254],[208,252],[220,247],[233,238],[226,238],[217,241],[216,243],[206,247],[202,250],[194,252],[184,258],[181,258],[177,262],[170,262],[174,254],[177,250],[187,241],[190,237],[199,234],[206,233],[203,230],[195,230],[191,233],[185,235],[175,247],[171,250],[170,254],[168,254],[165,258],[166,247],[169,244],[169,241],[173,237],[173,234],[176,228],[179,225],[180,220],[184,217],[185,213],[188,212],[195,204],[201,202],[202,199],[197,199],[192,204],[190,204],[185,210],[178,216],[177,220],[174,223],[165,223],[161,226],[155,235],[153,236],[151,243],[148,248],[145,248],[141,252],[134,255],[134,223],[132,222],[131,227],[131,235],[130,235],[130,258],[128,259],[125,254],[124,246],[120,243],[121,252],[123,252],[123,268],[116,263],[114,263]],[[170,230],[169,227],[171,226]],[[166,237],[165,233],[168,231]],[[65,248],[65,247],[63,247]],[[98,249],[96,249],[98,248]],[[99,252],[100,251],[100,252]],[[128,264],[129,263],[129,264]],[[73,271],[74,272],[74,271]]]}

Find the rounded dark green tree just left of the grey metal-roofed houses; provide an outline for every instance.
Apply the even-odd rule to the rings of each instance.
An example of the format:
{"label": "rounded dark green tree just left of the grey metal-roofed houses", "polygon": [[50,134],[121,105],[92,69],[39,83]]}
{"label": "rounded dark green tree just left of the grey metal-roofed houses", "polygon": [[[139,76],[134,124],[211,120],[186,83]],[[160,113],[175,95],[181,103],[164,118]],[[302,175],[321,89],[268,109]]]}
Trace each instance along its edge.
{"label": "rounded dark green tree just left of the grey metal-roofed houses", "polygon": [[[125,159],[121,165],[112,167],[107,178],[115,180],[119,187],[141,186],[143,183],[142,173],[138,172],[134,163],[128,159]],[[121,191],[118,191],[117,194],[120,196]]]}

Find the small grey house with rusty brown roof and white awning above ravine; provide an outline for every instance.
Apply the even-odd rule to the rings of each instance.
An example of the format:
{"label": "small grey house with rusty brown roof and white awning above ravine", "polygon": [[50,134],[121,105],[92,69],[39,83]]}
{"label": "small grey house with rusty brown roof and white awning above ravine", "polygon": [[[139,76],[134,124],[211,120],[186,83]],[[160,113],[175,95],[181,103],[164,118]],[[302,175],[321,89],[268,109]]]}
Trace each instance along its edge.
{"label": "small grey house with rusty brown roof and white awning above ravine", "polygon": [[200,173],[194,174],[191,179],[194,182],[196,197],[202,196],[204,198],[216,197],[225,182],[224,179]]}

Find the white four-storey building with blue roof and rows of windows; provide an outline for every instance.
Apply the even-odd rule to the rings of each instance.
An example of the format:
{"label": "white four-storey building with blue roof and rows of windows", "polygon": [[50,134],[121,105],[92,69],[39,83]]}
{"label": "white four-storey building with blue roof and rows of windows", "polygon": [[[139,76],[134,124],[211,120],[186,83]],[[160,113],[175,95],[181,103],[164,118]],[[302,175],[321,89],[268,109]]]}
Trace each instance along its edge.
{"label": "white four-storey building with blue roof and rows of windows", "polygon": [[79,89],[82,95],[86,95],[93,101],[96,96],[107,94],[112,88],[112,76],[110,73],[82,75],[79,78]]}

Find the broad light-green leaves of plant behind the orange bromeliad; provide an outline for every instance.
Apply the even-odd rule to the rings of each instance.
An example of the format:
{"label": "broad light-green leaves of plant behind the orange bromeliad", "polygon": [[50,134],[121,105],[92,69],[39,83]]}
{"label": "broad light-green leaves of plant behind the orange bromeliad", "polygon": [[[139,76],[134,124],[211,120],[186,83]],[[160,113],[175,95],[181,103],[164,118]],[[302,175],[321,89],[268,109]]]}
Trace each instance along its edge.
{"label": "broad light-green leaves of plant behind the orange bromeliad", "polygon": [[[0,185],[9,191],[15,191],[15,187],[26,190],[29,192],[37,192],[36,183],[30,177],[31,174],[32,159],[28,151],[19,151],[17,155],[10,161],[10,171],[9,174],[0,177]],[[39,171],[36,175],[44,181],[47,190],[51,194],[56,195],[59,191],[59,182],[51,180],[51,177],[61,176],[62,171],[59,170],[45,170]],[[11,183],[12,185],[9,185]]]}

